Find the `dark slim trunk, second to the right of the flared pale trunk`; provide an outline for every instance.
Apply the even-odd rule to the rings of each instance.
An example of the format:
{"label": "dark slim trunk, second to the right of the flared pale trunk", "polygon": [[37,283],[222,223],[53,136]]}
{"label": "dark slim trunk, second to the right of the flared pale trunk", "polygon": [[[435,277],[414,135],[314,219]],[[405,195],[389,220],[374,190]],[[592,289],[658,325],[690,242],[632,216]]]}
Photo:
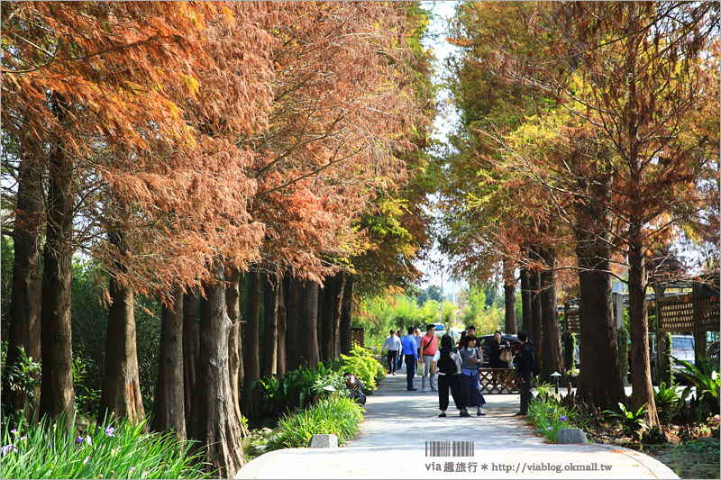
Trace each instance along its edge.
{"label": "dark slim trunk, second to the right of the flared pale trunk", "polygon": [[260,378],[260,273],[248,274],[248,312],[245,313],[245,331],[242,335],[242,412],[246,416],[261,414],[260,390],[251,384]]}

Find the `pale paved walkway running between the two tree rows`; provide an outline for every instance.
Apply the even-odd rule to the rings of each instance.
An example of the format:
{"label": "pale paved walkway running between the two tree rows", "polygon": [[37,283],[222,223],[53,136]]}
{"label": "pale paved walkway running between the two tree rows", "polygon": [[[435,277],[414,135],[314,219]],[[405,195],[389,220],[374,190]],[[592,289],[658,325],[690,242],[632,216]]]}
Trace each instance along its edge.
{"label": "pale paved walkway running between the two tree rows", "polygon": [[[678,478],[628,448],[544,443],[514,417],[518,395],[486,395],[486,416],[438,418],[438,394],[406,391],[405,371],[368,397],[362,433],[342,448],[288,448],[253,459],[236,478]],[[471,410],[475,413],[475,409]],[[473,441],[465,457],[430,456],[426,442]],[[452,452],[451,452],[452,453]]]}

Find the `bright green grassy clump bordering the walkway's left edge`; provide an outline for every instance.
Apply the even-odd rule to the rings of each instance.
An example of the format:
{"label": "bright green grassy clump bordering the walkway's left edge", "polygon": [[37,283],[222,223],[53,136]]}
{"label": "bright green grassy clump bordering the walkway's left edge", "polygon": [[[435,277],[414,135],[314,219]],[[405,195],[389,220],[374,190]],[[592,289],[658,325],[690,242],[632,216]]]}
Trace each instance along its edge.
{"label": "bright green grassy clump bordering the walkway's left edge", "polygon": [[344,444],[360,430],[363,410],[354,400],[330,395],[308,410],[287,416],[280,421],[278,434],[269,441],[270,449],[307,447],[315,434],[333,433]]}

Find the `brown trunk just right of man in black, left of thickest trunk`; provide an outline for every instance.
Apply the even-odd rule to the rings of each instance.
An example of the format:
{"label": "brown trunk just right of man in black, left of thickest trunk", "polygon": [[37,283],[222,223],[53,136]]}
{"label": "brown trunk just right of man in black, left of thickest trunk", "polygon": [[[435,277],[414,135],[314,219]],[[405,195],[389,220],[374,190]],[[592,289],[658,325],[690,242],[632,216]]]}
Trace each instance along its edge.
{"label": "brown trunk just right of man in black, left of thickest trunk", "polygon": [[543,261],[546,268],[541,272],[541,322],[543,345],[541,347],[541,376],[551,381],[551,374],[558,372],[561,379],[566,378],[561,355],[561,331],[558,324],[558,306],[556,304],[556,252],[543,249]]}

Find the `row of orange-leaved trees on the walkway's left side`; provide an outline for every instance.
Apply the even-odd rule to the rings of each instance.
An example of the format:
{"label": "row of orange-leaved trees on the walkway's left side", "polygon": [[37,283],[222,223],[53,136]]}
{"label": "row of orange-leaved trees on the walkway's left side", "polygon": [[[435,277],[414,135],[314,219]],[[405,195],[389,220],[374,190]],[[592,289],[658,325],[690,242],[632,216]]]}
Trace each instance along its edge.
{"label": "row of orange-leaved trees on the walkway's left side", "polygon": [[94,258],[108,305],[101,418],[145,415],[133,304],[157,295],[152,427],[187,430],[234,475],[251,382],[338,355],[352,272],[364,285],[382,260],[391,280],[417,275],[424,219],[409,205],[424,191],[406,185],[434,109],[424,11],[8,2],[2,18],[7,364],[21,348],[41,358],[31,411],[72,418],[71,259]]}

